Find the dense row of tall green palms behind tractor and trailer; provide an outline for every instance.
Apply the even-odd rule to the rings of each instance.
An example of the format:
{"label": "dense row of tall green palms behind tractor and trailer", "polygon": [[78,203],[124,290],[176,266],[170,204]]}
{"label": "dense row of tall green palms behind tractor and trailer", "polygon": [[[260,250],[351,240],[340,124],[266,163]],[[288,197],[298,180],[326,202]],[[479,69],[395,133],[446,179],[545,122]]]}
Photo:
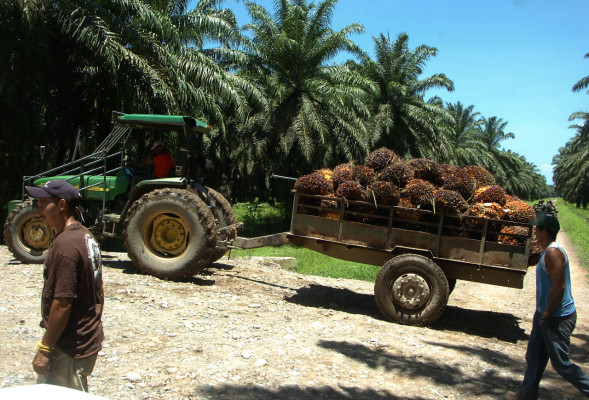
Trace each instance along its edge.
{"label": "dense row of tall green palms behind tractor and trailer", "polygon": [[[248,2],[243,27],[222,3],[2,1],[2,204],[20,194],[23,175],[71,158],[78,132],[90,147],[99,143],[112,110],[207,121],[205,151],[231,201],[284,197],[272,172],[297,177],[363,162],[382,146],[403,158],[484,166],[522,198],[546,193],[538,168],[502,147],[514,137],[507,121],[426,97],[454,90],[443,73],[422,76],[436,48],[381,34],[370,56],[351,39],[362,25],[332,28],[336,0],[279,0],[273,10]],[[334,62],[341,54],[350,59]],[[565,160],[578,161],[573,153],[586,148],[586,136],[558,156],[563,190],[575,175]]]}

